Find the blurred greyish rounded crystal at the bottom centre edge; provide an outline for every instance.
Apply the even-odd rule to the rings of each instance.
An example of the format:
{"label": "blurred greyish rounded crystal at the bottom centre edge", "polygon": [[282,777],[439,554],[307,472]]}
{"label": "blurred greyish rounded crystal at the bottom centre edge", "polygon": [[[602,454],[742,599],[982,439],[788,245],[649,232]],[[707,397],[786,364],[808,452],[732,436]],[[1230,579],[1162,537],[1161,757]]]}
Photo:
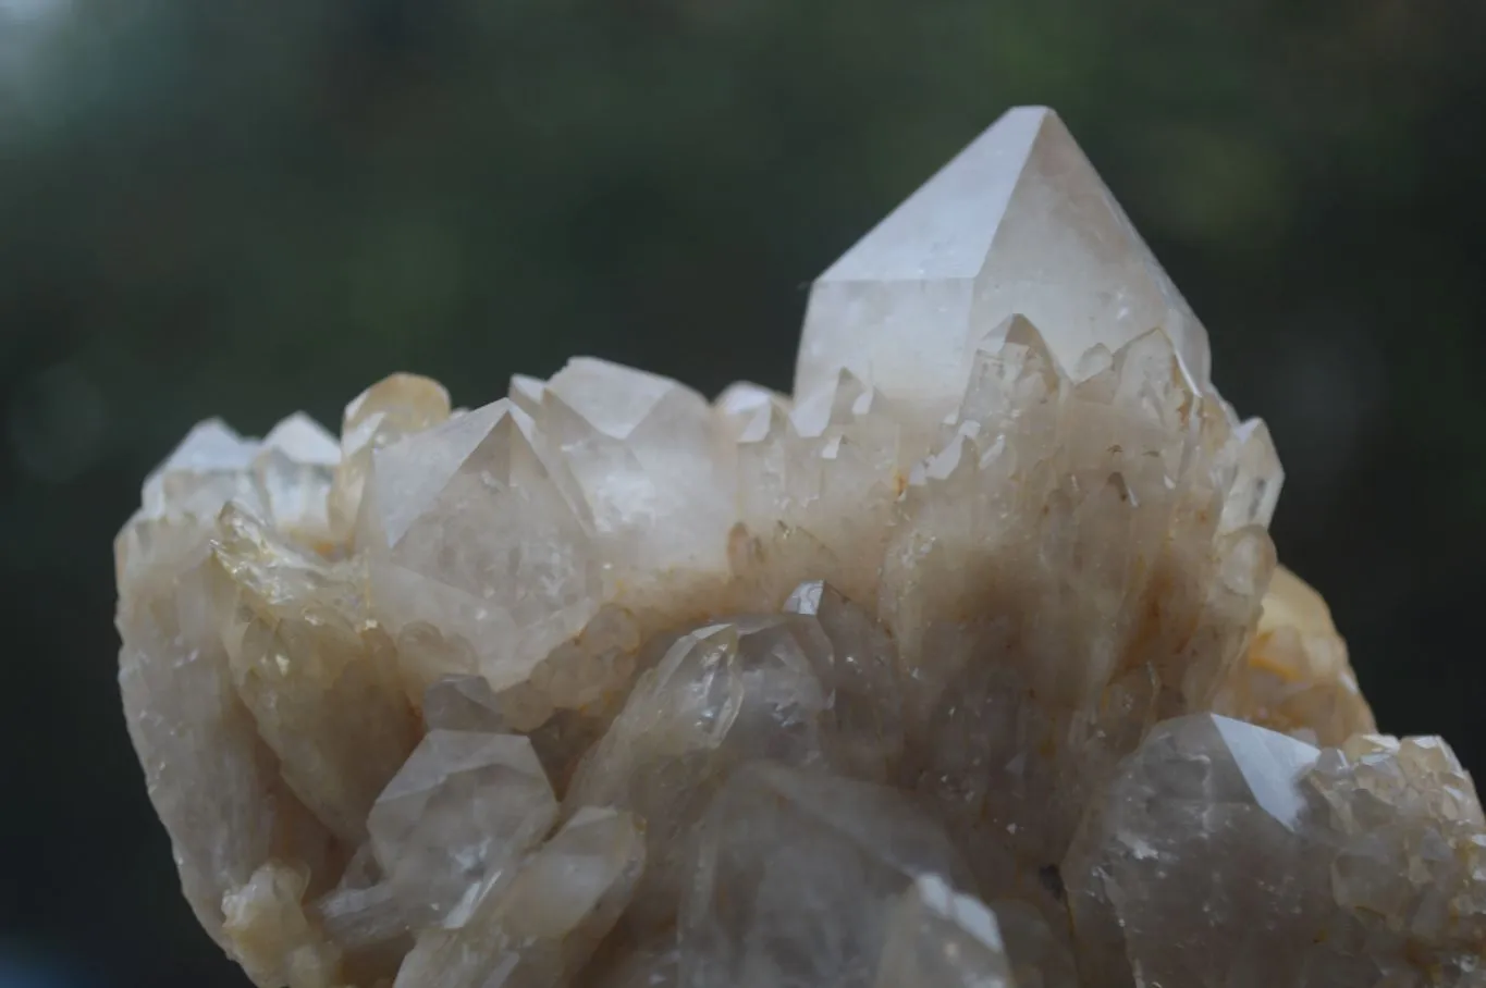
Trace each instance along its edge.
{"label": "blurred greyish rounded crystal at the bottom centre edge", "polygon": [[[966,875],[939,826],[899,792],[753,764],[736,771],[712,802],[700,844],[681,923],[684,985],[973,984],[893,981],[921,970],[914,966],[926,958],[892,952],[878,978],[884,940],[899,954],[926,949],[917,942],[893,943],[923,936],[911,929],[921,918],[914,915],[911,894],[905,902],[905,890],[918,875]],[[972,908],[936,883],[932,908],[938,906],[951,936],[967,935],[953,929],[966,918],[987,926],[984,906],[969,915]],[[899,932],[903,924],[909,929]],[[972,939],[976,935],[987,952],[999,952],[994,923],[990,932],[969,932]]]}

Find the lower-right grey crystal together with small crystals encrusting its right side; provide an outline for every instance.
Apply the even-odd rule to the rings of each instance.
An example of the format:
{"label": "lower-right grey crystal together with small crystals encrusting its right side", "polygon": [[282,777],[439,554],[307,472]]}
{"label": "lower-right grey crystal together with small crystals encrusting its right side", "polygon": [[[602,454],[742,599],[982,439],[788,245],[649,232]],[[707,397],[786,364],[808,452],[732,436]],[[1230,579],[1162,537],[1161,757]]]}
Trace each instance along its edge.
{"label": "lower-right grey crystal together with small crystals encrusting its right side", "polygon": [[1120,765],[1062,875],[1088,985],[1476,985],[1483,854],[1437,738],[1192,715]]}

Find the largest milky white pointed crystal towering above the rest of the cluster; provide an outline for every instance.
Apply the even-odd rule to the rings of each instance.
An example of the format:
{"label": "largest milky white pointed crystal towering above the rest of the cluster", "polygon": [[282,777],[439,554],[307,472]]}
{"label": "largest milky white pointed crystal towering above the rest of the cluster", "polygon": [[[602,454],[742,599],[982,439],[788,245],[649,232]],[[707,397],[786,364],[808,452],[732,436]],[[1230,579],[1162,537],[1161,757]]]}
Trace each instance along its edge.
{"label": "largest milky white pointed crystal towering above the rest of the cluster", "polygon": [[1208,379],[1202,324],[1043,107],[1002,116],[816,279],[795,395],[846,367],[936,420],[981,337],[1018,313],[1067,371],[1159,327]]}

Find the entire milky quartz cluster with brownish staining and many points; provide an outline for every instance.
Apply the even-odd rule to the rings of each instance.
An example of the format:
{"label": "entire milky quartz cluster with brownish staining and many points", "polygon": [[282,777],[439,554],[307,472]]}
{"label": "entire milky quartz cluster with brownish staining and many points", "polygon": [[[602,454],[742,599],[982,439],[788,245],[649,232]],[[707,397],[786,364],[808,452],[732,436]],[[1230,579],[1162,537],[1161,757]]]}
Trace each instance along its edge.
{"label": "entire milky quartz cluster with brownish staining and many points", "polygon": [[1372,734],[1055,114],[816,282],[795,385],[398,374],[149,478],[129,729],[259,985],[1486,985],[1470,777]]}

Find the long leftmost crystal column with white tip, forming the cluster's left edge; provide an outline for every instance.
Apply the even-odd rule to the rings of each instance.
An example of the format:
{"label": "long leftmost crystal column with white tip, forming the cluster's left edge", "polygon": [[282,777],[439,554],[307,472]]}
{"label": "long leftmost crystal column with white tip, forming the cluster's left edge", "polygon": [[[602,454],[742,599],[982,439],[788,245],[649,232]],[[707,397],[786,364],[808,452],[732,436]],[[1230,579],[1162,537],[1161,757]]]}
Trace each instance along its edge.
{"label": "long leftmost crystal column with white tip, forming the cluster's left edge", "polygon": [[[324,866],[330,842],[285,789],[233,686],[211,588],[210,544],[223,505],[267,513],[260,452],[221,422],[202,422],[144,481],[143,505],[114,542],[129,737],[186,899],[223,945],[224,896],[245,885],[275,847]],[[300,475],[314,483],[315,464],[302,465]]]}

